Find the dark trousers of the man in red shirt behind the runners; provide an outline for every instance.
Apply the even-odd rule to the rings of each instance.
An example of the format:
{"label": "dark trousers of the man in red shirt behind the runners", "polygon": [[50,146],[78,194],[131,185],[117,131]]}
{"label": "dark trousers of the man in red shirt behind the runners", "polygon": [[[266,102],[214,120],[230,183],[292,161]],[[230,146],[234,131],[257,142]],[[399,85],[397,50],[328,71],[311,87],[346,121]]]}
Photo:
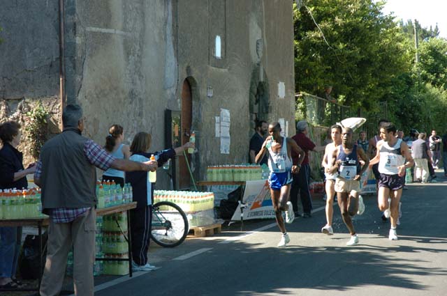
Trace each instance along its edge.
{"label": "dark trousers of the man in red shirt behind the runners", "polygon": [[293,205],[293,212],[298,212],[298,193],[300,193],[302,211],[310,214],[312,211],[312,198],[309,191],[309,164],[303,164],[299,173],[293,174],[293,181],[291,187],[291,202]]}

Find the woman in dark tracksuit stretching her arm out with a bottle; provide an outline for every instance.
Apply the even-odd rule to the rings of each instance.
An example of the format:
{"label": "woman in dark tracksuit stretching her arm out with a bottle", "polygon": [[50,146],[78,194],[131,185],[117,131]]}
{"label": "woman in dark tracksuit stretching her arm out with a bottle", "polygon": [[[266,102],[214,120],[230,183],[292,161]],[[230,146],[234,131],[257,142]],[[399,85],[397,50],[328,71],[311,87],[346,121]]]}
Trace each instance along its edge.
{"label": "woman in dark tracksuit stretching her arm out with a bottle", "polygon": [[[169,159],[182,153],[187,148],[194,147],[193,143],[186,143],[178,148],[170,148],[155,153],[149,153],[152,137],[147,132],[135,134],[131,144],[131,157],[134,162],[147,162],[154,155],[160,166]],[[152,200],[154,186],[147,178],[147,172],[126,172],[126,182],[130,182],[133,192],[133,201],[137,202],[137,208],[131,210],[131,235],[132,235],[132,269],[133,271],[154,270],[156,267],[147,262],[147,250],[149,249],[149,237],[152,227]]]}

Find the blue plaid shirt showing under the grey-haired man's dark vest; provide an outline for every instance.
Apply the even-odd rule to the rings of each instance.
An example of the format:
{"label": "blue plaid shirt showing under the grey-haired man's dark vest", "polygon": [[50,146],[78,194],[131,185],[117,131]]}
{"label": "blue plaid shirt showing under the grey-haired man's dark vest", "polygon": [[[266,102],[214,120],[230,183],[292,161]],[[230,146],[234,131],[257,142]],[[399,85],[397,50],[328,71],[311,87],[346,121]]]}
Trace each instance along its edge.
{"label": "blue plaid shirt showing under the grey-haired man's dark vest", "polygon": [[[103,171],[109,169],[115,160],[115,157],[108,154],[101,146],[91,140],[85,142],[84,154],[92,165]],[[41,178],[41,174],[42,162],[39,160],[36,166],[36,172],[34,173],[34,179]],[[87,210],[89,208],[56,208],[51,210],[50,218],[53,219],[54,223],[68,223],[84,215]]]}

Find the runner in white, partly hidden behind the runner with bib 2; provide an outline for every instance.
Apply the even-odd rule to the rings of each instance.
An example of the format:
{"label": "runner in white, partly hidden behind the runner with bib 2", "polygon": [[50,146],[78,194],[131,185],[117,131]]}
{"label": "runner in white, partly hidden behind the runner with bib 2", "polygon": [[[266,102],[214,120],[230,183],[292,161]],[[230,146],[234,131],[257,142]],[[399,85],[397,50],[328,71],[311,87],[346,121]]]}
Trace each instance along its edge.
{"label": "runner in white, partly hidden behind the runner with bib 2", "polygon": [[332,216],[334,215],[334,195],[335,195],[335,179],[338,176],[338,173],[329,173],[331,165],[328,164],[328,157],[332,155],[332,152],[337,146],[342,145],[342,127],[339,125],[332,125],[330,127],[330,137],[332,138],[332,143],[328,143],[326,145],[323,162],[321,165],[324,168],[324,176],[325,176],[325,190],[326,190],[326,225],[321,228],[321,232],[327,235],[334,234],[334,230],[332,229]]}

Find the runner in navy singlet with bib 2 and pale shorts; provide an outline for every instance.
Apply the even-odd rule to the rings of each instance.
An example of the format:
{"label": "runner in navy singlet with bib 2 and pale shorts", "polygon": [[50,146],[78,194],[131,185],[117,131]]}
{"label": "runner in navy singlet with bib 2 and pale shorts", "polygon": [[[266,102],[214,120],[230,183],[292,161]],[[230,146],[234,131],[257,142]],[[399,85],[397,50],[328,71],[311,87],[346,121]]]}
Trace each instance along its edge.
{"label": "runner in navy singlet with bib 2 and pale shorts", "polygon": [[[365,205],[360,198],[360,176],[367,169],[369,159],[362,148],[353,143],[353,130],[345,127],[342,130],[342,145],[337,146],[332,152],[329,163],[335,164],[330,169],[330,173],[337,173],[335,180],[335,192],[337,192],[338,205],[344,224],[351,234],[351,239],[346,243],[347,246],[358,244],[358,235],[352,224],[354,215],[359,208],[365,209]],[[360,168],[360,159],[365,164]],[[359,205],[360,203],[360,205]],[[359,213],[360,214],[360,213]]]}

